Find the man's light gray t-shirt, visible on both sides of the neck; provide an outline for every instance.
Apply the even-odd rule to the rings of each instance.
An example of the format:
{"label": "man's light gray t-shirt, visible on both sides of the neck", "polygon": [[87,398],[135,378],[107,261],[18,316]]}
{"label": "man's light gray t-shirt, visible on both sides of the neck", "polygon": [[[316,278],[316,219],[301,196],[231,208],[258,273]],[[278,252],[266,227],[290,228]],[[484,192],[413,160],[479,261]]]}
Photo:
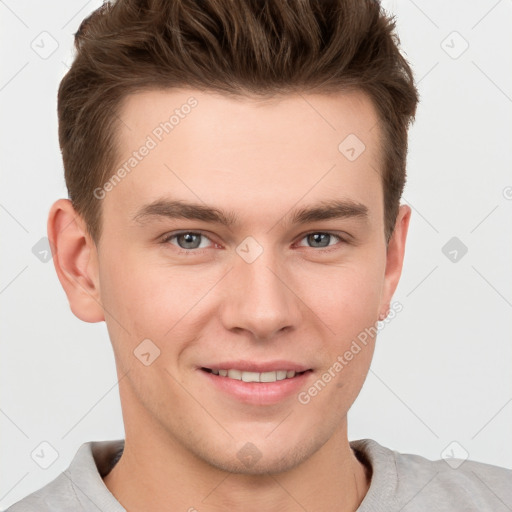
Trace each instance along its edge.
{"label": "man's light gray t-shirt, visible on both sides of the neck", "polygon": [[[371,467],[371,484],[358,512],[512,510],[512,470],[466,460],[431,461],[401,454],[371,439],[351,441]],[[66,471],[7,512],[126,512],[103,483],[124,440],[82,444]]]}

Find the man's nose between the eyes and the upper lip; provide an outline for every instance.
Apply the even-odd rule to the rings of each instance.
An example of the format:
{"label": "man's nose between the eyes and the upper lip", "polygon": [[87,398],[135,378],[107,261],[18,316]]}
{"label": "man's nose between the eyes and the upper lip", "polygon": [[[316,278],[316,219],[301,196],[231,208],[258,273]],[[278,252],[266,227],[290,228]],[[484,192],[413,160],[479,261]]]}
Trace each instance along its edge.
{"label": "man's nose between the eyes and the upper lip", "polygon": [[221,321],[226,329],[266,340],[292,330],[300,318],[292,277],[270,251],[248,263],[235,258],[223,286]]}

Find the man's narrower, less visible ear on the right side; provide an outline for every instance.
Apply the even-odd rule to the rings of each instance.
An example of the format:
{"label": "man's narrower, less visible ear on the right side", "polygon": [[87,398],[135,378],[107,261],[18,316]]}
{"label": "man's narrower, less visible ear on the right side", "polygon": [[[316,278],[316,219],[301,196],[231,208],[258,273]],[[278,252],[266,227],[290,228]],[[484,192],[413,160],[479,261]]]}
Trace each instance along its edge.
{"label": "man's narrower, less visible ear on the right side", "polygon": [[391,299],[395,293],[405,255],[405,241],[409,221],[411,219],[411,208],[407,205],[401,205],[398,210],[398,216],[395,223],[395,229],[389,240],[386,254],[386,271],[384,274],[384,287],[382,290],[381,310],[379,319],[384,320],[388,315]]}

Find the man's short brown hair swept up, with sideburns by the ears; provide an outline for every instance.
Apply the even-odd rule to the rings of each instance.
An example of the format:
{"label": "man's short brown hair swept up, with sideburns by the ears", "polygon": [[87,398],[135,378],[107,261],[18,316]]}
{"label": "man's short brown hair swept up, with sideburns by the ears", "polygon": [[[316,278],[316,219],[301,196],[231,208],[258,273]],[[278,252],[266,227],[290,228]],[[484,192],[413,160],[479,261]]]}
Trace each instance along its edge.
{"label": "man's short brown hair swept up, with sideburns by the ears", "polygon": [[[418,102],[393,18],[373,0],[117,0],[75,34],[58,93],[69,198],[97,243],[93,195],[118,161],[119,109],[129,94],[177,87],[235,96],[359,90],[382,133],[385,235],[406,179],[407,130]],[[341,141],[340,141],[341,142]]]}

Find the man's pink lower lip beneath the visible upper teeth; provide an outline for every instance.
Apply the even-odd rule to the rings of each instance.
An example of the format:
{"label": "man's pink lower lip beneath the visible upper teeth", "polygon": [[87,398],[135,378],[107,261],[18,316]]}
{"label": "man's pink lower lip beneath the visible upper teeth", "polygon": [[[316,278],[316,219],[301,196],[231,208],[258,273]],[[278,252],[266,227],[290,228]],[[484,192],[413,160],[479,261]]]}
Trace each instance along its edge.
{"label": "man's pink lower lip beneath the visible upper teeth", "polygon": [[240,402],[252,405],[273,405],[285,398],[296,395],[312,374],[312,371],[308,370],[291,379],[275,382],[244,382],[215,375],[201,369],[199,369],[199,372],[224,393],[231,395]]}

